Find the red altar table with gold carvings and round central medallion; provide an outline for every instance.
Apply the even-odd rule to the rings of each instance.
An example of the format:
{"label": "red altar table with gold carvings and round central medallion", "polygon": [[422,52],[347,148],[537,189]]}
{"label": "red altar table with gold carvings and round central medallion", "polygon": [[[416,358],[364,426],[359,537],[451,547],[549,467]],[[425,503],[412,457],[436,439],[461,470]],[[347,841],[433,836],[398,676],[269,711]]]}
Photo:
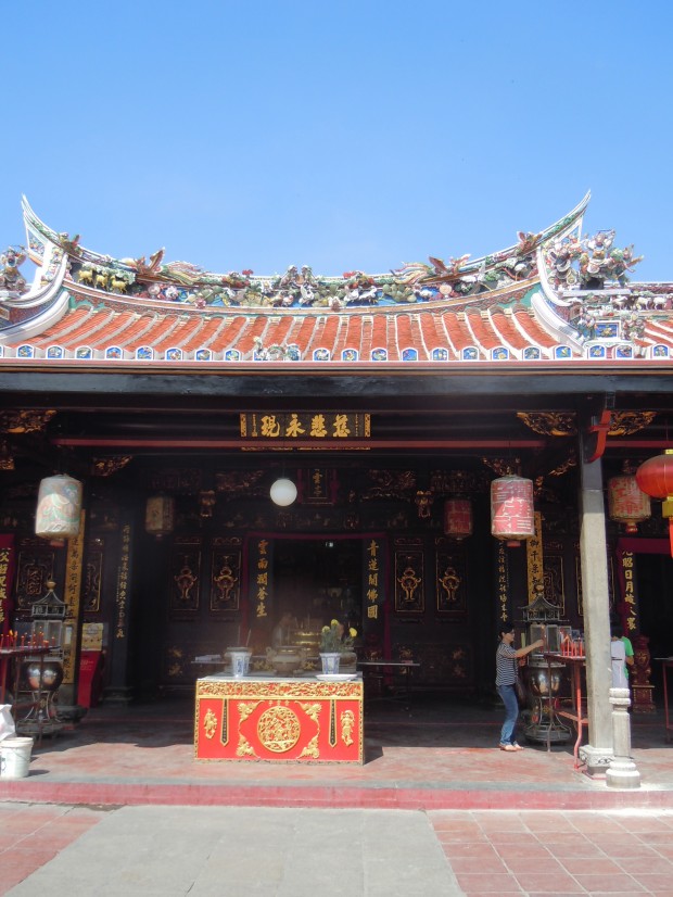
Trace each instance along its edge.
{"label": "red altar table with gold carvings and round central medallion", "polygon": [[363,680],[226,674],[196,680],[194,756],[363,763]]}

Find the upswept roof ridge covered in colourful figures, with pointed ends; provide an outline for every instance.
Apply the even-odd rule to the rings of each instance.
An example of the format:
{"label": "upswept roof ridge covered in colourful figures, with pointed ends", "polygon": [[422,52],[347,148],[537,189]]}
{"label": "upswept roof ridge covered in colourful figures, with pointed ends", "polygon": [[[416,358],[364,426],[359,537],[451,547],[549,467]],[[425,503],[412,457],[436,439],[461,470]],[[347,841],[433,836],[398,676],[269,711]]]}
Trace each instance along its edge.
{"label": "upswept roof ridge covered in colourful figures, with pointed ends", "polygon": [[[46,225],[22,198],[28,236],[28,254],[39,265],[40,282],[63,273],[65,285],[82,295],[104,300],[125,295],[132,301],[192,305],[196,308],[254,309],[264,315],[285,309],[319,313],[354,312],[361,308],[471,305],[485,296],[521,295],[538,279],[541,247],[561,240],[577,228],[589,193],[568,215],[538,233],[519,231],[519,242],[496,253],[468,261],[469,255],[444,262],[408,263],[386,274],[346,270],[341,277],[316,276],[304,265],[291,265],[282,275],[256,276],[252,270],[214,274],[187,262],[164,264],[164,251],[149,260],[116,260],[81,245],[79,235],[69,237]],[[250,314],[250,312],[247,312]]]}

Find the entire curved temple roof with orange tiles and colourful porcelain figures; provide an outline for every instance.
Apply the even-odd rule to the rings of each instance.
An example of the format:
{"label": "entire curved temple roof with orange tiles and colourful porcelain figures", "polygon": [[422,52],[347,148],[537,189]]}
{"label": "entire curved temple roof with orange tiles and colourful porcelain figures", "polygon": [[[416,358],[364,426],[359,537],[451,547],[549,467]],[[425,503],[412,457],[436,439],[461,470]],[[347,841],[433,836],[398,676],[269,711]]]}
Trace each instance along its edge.
{"label": "entire curved temple roof with orange tiles and colourful porcelain figures", "polygon": [[[430,256],[386,274],[215,274],[157,250],[112,258],[48,227],[23,199],[27,245],[0,255],[0,364],[221,367],[666,361],[673,283],[630,280],[614,231],[582,236],[589,194],[481,258]],[[21,266],[37,266],[31,283]]]}

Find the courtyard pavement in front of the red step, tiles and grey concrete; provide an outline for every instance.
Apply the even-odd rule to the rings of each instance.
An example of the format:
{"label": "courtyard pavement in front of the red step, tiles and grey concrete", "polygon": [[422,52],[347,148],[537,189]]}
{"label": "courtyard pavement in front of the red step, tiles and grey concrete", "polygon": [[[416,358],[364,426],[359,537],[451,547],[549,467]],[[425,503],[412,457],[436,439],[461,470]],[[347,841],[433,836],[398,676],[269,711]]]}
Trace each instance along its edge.
{"label": "courtyard pavement in front of the red step, tiles and grey concrete", "polygon": [[[114,820],[115,814],[123,811],[127,814]],[[189,857],[181,857],[177,845],[186,841],[182,833],[187,820],[181,819],[181,813],[187,811],[190,813],[192,835],[201,814],[221,812],[230,823],[233,820],[242,842],[259,851],[254,874],[250,873],[250,888],[243,887],[239,879],[236,887],[232,882],[229,883],[232,889],[224,884],[208,889],[206,882],[212,883],[214,872],[209,869],[206,875],[203,870],[211,862],[212,848],[206,851],[207,857],[204,854],[195,861],[193,845],[190,847],[188,842],[186,849],[190,848]],[[180,832],[178,841],[165,843],[157,818],[145,816],[156,812],[161,813],[164,830],[170,831],[173,827]],[[297,858],[296,843],[292,839],[283,843],[279,832],[287,838],[288,832],[295,829],[306,838],[307,832],[316,827],[319,831],[316,813],[321,814],[320,819],[325,821],[326,813],[330,811],[269,808],[228,808],[218,811],[218,808],[177,807],[119,810],[0,804],[0,895],[41,897],[48,893],[50,897],[77,897],[97,892],[126,897],[136,893],[138,887],[138,893],[161,893],[164,897],[174,894],[195,897],[207,893],[218,897],[247,893],[280,897],[288,892],[284,889],[287,872],[281,874],[279,866],[283,869],[291,866],[296,870],[299,864],[306,869],[307,860]],[[348,875],[344,877],[336,870],[332,880],[322,883],[320,892],[325,897],[342,895],[346,880],[351,882],[348,893],[360,897],[379,893],[377,882],[381,886],[380,893],[388,897],[409,897],[416,893],[423,897],[447,897],[460,893],[468,897],[488,894],[528,897],[673,895],[673,811],[503,809],[431,810],[427,813],[420,810],[336,810],[331,813],[335,821],[332,824],[339,824],[342,829],[345,825],[353,833],[354,841],[346,845],[343,859],[350,867]],[[420,817],[428,818],[432,826],[428,826],[428,832],[434,832],[432,837],[427,834]],[[226,821],[220,817],[217,817],[217,825],[211,824],[212,818],[203,816],[201,822],[208,825],[209,831],[215,829],[217,838],[227,831]],[[363,848],[358,858],[357,845],[363,842],[361,831],[369,832],[369,841],[367,849]],[[379,856],[377,850],[391,847],[391,831],[396,831],[398,835],[402,833],[404,849],[397,846],[394,851],[385,850]],[[85,833],[86,839],[82,838]],[[334,852],[333,836],[328,836],[325,831],[322,835],[326,849]],[[218,847],[218,851],[226,855],[220,860],[227,860],[230,875],[233,874],[232,856],[241,849],[232,844],[231,838],[231,834],[226,835],[229,852],[227,847]],[[446,858],[446,879],[443,879],[437,864],[434,838]],[[161,890],[154,890],[151,883],[156,885],[160,881],[154,866],[166,874],[167,850],[179,868],[189,859],[194,868],[175,887],[167,889],[162,885]],[[276,855],[275,862],[269,862],[269,854]],[[408,855],[412,855],[414,862],[407,861]],[[427,863],[424,872],[417,868],[419,855]],[[366,857],[369,859],[367,874]],[[90,874],[87,872],[87,861],[92,866]],[[384,874],[380,873],[378,880],[377,869],[383,861],[389,869]],[[391,877],[396,863],[399,864],[395,872],[397,877]],[[77,874],[75,869],[79,870]],[[226,879],[227,873],[223,874]],[[237,875],[241,874],[239,868]],[[299,873],[295,871],[293,874]],[[320,868],[314,874],[319,876]],[[454,881],[457,882],[455,889],[452,885]],[[417,882],[420,884],[418,892],[415,888]],[[306,883],[306,895],[314,895],[315,892],[316,881]],[[296,882],[292,893],[295,897],[303,897],[304,894]]]}

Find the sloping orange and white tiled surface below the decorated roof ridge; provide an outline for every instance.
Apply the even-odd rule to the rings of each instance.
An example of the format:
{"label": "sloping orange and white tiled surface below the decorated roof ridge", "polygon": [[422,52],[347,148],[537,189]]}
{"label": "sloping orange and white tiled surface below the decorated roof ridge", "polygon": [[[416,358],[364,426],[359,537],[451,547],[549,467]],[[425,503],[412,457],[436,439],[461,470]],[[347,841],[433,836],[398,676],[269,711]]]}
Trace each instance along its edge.
{"label": "sloping orange and white tiled surface below the decorated roof ridge", "polygon": [[[71,296],[65,314],[54,325],[28,340],[20,333],[2,349],[4,357],[58,357],[54,350],[61,350],[66,358],[140,356],[145,361],[190,359],[207,350],[209,361],[245,362],[256,361],[259,354],[256,339],[267,350],[295,346],[295,361],[343,361],[350,350],[353,361],[360,363],[516,361],[526,350],[553,358],[562,344],[522,304],[458,312],[420,306],[395,314],[358,309],[262,315],[170,307],[134,311],[128,300],[107,295],[96,306],[81,296],[79,301]],[[673,354],[673,320],[652,320],[640,342],[669,346]],[[111,354],[112,349],[119,354]],[[575,350],[571,356],[579,354]]]}

